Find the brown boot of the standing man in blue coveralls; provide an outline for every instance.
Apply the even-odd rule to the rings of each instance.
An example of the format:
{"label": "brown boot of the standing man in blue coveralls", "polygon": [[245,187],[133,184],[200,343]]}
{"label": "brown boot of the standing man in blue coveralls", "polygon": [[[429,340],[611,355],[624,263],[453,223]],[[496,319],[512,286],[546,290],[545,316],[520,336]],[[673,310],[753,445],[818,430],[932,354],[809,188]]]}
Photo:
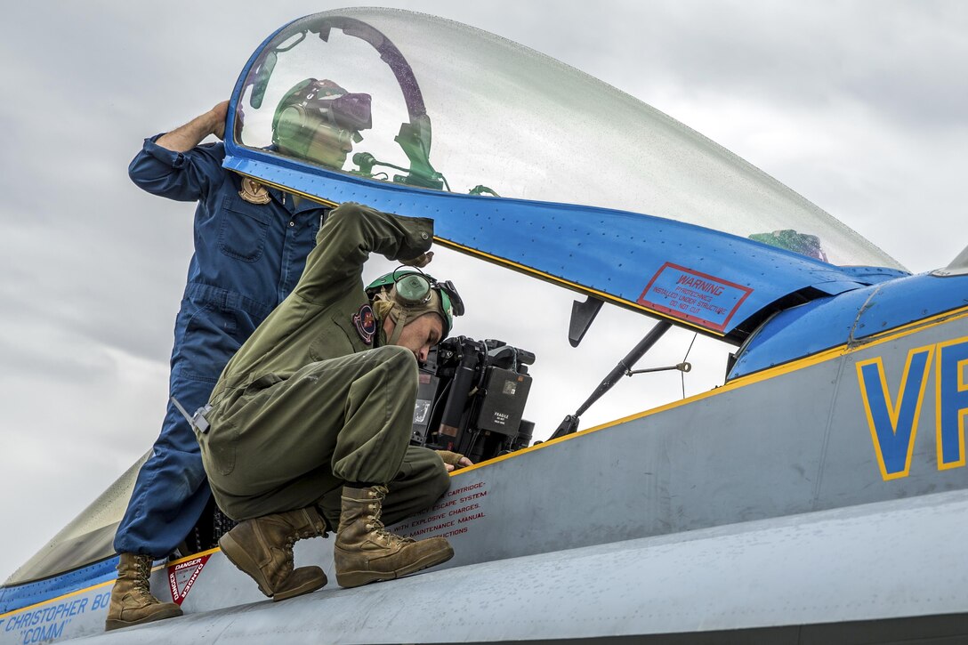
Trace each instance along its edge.
{"label": "brown boot of the standing man in blue coveralls", "polygon": [[177,604],[162,602],[151,595],[149,578],[153,561],[148,555],[121,554],[118,579],[107,605],[106,631],[181,616],[181,607]]}

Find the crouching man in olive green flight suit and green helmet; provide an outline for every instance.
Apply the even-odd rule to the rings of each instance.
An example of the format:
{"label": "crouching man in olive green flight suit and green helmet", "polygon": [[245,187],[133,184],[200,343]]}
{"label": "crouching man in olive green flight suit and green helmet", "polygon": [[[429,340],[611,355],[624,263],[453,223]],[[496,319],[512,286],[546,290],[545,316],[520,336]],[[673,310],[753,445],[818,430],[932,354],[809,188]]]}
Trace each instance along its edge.
{"label": "crouching man in olive green flight suit and green helmet", "polygon": [[321,568],[293,569],[292,544],[334,528],[343,587],[449,560],[443,537],[415,541],[383,522],[433,505],[447,471],[470,463],[409,445],[417,361],[463,313],[459,296],[419,271],[398,270],[369,290],[361,278],[371,253],[430,261],[433,220],[348,203],[318,235],[325,243],[295,290],[228,362],[197,423],[212,493],[240,521],[219,544],[274,600],[326,584]]}

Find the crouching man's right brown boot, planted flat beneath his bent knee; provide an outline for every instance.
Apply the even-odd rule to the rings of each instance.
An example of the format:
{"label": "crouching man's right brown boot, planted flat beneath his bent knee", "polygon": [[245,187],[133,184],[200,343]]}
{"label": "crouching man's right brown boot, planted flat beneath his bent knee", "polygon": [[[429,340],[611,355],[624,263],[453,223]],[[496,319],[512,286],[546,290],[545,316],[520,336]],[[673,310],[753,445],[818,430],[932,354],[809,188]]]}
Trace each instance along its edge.
{"label": "crouching man's right brown boot, planted flat beneath his bent knee", "polygon": [[384,497],[384,486],[343,487],[343,511],[333,548],[341,587],[392,580],[454,557],[454,549],[443,537],[416,541],[384,529],[379,521]]}

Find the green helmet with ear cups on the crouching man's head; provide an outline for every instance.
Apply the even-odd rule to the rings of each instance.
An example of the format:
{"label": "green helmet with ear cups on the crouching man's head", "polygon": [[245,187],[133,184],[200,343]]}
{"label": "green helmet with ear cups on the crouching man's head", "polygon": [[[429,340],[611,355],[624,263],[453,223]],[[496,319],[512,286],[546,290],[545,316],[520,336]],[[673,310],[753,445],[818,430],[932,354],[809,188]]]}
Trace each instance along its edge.
{"label": "green helmet with ear cups on the crouching man's head", "polygon": [[384,314],[396,324],[393,337],[389,339],[391,345],[400,338],[407,323],[424,314],[438,314],[443,320],[440,340],[450,334],[454,316],[464,315],[464,300],[452,282],[438,282],[433,276],[417,269],[399,268],[381,275],[370,283],[366,293],[373,300],[391,305],[386,307]]}

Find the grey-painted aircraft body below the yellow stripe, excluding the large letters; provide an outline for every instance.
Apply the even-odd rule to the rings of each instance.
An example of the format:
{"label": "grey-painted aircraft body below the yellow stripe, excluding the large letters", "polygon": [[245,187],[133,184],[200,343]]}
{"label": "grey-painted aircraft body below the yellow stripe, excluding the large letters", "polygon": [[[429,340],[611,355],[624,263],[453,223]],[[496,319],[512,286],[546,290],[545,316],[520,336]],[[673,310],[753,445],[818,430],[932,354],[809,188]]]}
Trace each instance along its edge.
{"label": "grey-painted aircraft body below the yellow stripe, excluding the large letters", "polygon": [[[963,612],[968,468],[938,469],[933,371],[910,474],[890,481],[877,465],[856,374],[858,361],[881,357],[894,397],[910,349],[959,338],[968,338],[968,319],[459,473],[436,507],[396,527],[413,537],[447,536],[452,561],[407,580],[326,588],[280,605],[312,607],[298,617],[280,618],[263,604],[224,609],[261,597],[217,553],[183,604],[207,617],[174,625],[211,638],[218,626],[238,624],[244,636],[262,629],[237,622],[251,613],[267,626],[276,621],[273,629],[293,620],[307,633],[333,625],[327,629],[349,638],[371,623],[433,615],[455,622],[443,621],[437,635],[407,627],[360,642],[474,641],[579,636],[589,625],[615,635]],[[296,555],[297,565],[318,564],[333,577],[331,539],[299,542]],[[153,588],[165,586],[160,571]],[[328,613],[344,601],[337,599],[369,606],[371,595],[371,614]],[[673,604],[655,605],[657,597]],[[323,609],[306,604],[317,598],[329,599]],[[547,605],[553,618],[538,618],[546,598],[555,599]],[[603,603],[612,613],[583,613]],[[661,616],[653,605],[665,607]],[[504,631],[514,612],[527,618]],[[89,617],[73,625],[65,636],[98,629]],[[21,642],[16,634],[0,626],[0,642]]]}

